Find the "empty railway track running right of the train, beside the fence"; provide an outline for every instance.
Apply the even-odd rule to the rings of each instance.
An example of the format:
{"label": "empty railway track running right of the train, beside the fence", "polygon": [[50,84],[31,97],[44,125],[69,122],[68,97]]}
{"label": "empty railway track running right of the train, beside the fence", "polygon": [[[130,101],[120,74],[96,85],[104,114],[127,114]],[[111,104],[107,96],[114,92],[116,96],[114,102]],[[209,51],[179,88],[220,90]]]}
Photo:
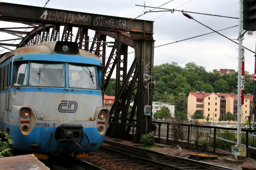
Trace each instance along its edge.
{"label": "empty railway track running right of the train, beside the fence", "polygon": [[122,160],[148,170],[233,170],[223,166],[146,150],[110,140],[104,140],[102,146],[95,150],[95,152],[112,156],[113,161]]}

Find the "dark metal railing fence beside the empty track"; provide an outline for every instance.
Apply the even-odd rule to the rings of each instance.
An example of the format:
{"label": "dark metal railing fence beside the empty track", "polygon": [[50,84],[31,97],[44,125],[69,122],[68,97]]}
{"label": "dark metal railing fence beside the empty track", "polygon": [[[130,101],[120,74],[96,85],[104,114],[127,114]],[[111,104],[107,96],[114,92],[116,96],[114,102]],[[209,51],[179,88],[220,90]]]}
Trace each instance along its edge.
{"label": "dark metal railing fence beside the empty track", "polygon": [[[152,121],[156,126],[155,142],[173,145],[183,144],[207,148],[213,153],[231,153],[236,144],[236,128],[194,125],[179,122]],[[246,146],[247,157],[256,155],[256,130],[242,129],[241,143]]]}

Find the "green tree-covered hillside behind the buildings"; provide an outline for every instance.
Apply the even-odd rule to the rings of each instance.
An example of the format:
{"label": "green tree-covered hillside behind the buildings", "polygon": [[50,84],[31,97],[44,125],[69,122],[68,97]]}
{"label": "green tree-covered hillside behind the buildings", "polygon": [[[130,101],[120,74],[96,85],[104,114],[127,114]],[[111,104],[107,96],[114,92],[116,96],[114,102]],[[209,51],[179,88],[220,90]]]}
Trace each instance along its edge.
{"label": "green tree-covered hillside behind the buildings", "polygon": [[[237,72],[221,75],[217,69],[207,72],[205,67],[194,62],[187,63],[184,68],[175,62],[156,65],[153,101],[175,105],[175,115],[186,119],[187,97],[190,92],[237,94],[237,75]],[[245,71],[245,75],[245,94],[253,94],[254,81],[249,78],[248,71]],[[110,96],[115,95],[115,79],[111,79],[105,93]]]}

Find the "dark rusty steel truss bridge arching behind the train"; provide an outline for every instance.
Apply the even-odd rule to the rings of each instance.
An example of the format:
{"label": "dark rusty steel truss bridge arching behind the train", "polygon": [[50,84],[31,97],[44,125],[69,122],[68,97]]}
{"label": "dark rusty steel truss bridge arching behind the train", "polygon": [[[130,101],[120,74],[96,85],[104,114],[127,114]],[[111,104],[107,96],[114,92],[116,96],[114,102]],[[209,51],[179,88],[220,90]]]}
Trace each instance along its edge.
{"label": "dark rusty steel truss bridge arching behind the train", "polygon": [[[153,83],[150,82],[153,81],[154,61],[153,22],[128,22],[131,19],[52,8],[41,9],[35,6],[0,3],[0,21],[28,25],[19,28],[0,28],[0,32],[17,37],[0,40],[0,46],[8,49],[9,46],[18,48],[49,41],[73,41],[79,44],[79,49],[99,56],[103,63],[103,91],[108,87],[114,71],[116,75],[116,96],[110,110],[106,135],[138,143],[140,136],[151,130],[151,116],[144,115],[144,106],[147,103],[152,106]],[[17,31],[26,28],[32,30]],[[88,30],[95,31],[90,43]],[[108,43],[108,47],[112,48],[108,56],[107,36],[115,40],[111,45]],[[19,43],[2,43],[11,40],[18,40]],[[128,47],[134,48],[135,51],[130,69]],[[147,89],[148,83],[150,89]],[[131,130],[134,131],[133,135],[130,134]]]}

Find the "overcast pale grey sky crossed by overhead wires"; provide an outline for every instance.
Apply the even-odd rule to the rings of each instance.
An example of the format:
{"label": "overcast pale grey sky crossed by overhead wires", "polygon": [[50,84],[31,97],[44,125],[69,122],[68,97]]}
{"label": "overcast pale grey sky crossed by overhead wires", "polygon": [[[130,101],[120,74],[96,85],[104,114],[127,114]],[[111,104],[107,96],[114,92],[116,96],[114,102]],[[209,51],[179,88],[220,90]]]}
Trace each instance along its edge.
{"label": "overcast pale grey sky crossed by overhead wires", "polygon": [[[24,4],[43,7],[47,0],[1,0],[2,2]],[[154,8],[144,8],[137,5],[158,7],[169,0],[50,0],[47,8],[87,12],[109,16],[119,16],[126,18],[136,18],[141,13]],[[239,0],[173,0],[161,6],[176,10],[199,12],[204,14],[215,14],[229,17],[239,17]],[[157,11],[154,10],[154,11]],[[165,14],[165,15],[163,15]],[[207,16],[189,13],[195,20],[212,28],[222,30],[238,25],[238,19],[222,18],[217,16]],[[163,15],[163,16],[162,16]],[[212,32],[209,28],[190,20],[183,16],[181,12],[151,12],[140,16],[141,20],[154,21],[154,46],[177,42],[187,38],[192,38],[202,34]],[[21,26],[21,24],[0,22],[1,28],[9,26]],[[238,38],[238,26],[228,30],[223,30],[221,34],[231,39]],[[91,33],[90,38],[93,37]],[[244,36],[243,45],[255,51],[255,35]],[[9,34],[1,33],[0,40],[11,39]],[[112,40],[111,38],[109,40]],[[237,40],[234,40],[237,41]],[[238,41],[237,41],[238,42]],[[12,43],[12,42],[6,42]],[[16,42],[15,42],[16,43]],[[0,47],[0,50],[3,50]],[[132,48],[128,52],[134,51]],[[0,51],[1,52],[1,51]],[[7,52],[6,50],[4,52]],[[134,53],[129,54],[132,58]],[[162,63],[176,62],[181,67],[186,63],[195,62],[203,66],[207,71],[213,69],[235,69],[238,71],[238,45],[230,40],[223,38],[219,34],[213,33],[199,38],[157,47],[154,50],[154,65]],[[245,51],[245,69],[251,74],[254,73],[254,53]]]}

